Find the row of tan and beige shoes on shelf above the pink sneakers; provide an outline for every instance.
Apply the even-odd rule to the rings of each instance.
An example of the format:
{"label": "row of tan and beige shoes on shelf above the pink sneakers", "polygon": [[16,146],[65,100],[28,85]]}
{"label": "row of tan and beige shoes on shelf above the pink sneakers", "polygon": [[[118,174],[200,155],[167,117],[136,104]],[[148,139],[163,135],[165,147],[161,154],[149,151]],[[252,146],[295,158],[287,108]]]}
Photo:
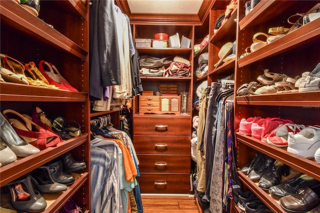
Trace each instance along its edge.
{"label": "row of tan and beige shoes on shelf above the pink sneakers", "polygon": [[269,72],[257,77],[257,81],[242,84],[236,91],[237,95],[271,94],[282,92],[303,92],[320,90],[320,63],[312,71],[305,71],[295,77],[283,73]]}

